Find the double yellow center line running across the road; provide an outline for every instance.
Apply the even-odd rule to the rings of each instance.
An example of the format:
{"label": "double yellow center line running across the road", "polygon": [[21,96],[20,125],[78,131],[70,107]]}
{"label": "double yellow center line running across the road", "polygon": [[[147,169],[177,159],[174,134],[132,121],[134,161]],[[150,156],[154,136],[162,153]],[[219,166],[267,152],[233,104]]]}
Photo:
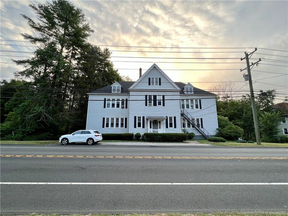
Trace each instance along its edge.
{"label": "double yellow center line running across the road", "polygon": [[0,157],[22,158],[144,158],[144,159],[288,159],[286,157],[162,157],[162,156],[93,156],[93,155],[0,155]]}

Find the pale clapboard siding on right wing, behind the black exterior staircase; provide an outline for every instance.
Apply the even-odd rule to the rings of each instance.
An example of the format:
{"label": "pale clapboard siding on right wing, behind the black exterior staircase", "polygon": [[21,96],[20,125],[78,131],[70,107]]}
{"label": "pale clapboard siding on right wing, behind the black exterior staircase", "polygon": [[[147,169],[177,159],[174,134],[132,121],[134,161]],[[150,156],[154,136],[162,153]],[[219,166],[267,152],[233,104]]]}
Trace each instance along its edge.
{"label": "pale clapboard siding on right wing, behind the black exterior staircase", "polygon": [[[195,119],[202,118],[203,128],[205,128],[211,135],[214,136],[217,133],[216,128],[218,128],[215,98],[212,98],[211,96],[180,95],[180,100],[181,99],[201,99],[202,109],[185,109],[185,110]],[[196,135],[201,135],[199,131],[197,131],[195,128],[185,128],[185,129],[188,130],[189,132],[193,132]]]}

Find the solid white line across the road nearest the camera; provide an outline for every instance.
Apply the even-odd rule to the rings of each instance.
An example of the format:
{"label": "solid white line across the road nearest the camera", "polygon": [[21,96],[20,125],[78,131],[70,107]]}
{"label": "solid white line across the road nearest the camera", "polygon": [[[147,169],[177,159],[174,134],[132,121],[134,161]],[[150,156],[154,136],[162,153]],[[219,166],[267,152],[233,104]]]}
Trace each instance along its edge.
{"label": "solid white line across the road nearest the camera", "polygon": [[88,184],[88,185],[288,185],[288,182],[269,183],[167,183],[167,182],[0,182],[0,184]]}

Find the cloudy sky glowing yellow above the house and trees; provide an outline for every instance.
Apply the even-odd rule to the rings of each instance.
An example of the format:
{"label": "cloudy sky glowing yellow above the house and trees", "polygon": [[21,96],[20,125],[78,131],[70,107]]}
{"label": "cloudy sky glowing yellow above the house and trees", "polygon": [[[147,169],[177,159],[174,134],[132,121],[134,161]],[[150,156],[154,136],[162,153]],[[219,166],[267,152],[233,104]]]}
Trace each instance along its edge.
{"label": "cloudy sky glowing yellow above the house and trees", "polygon": [[[33,51],[33,47],[27,47],[29,43],[4,40],[23,41],[19,33],[31,33],[20,14],[36,19],[28,5],[39,2],[43,3],[1,1],[1,79],[9,79],[14,71],[21,70],[7,64],[13,57],[4,55],[29,56],[7,51]],[[112,51],[111,60],[120,75],[136,81],[139,68],[145,72],[155,62],[175,82],[208,89],[212,82],[230,80],[235,88],[246,90],[249,85],[243,79],[245,71],[239,70],[246,67],[246,62],[240,58],[257,47],[250,59],[251,63],[262,58],[252,69],[254,89],[277,89],[277,98],[287,96],[288,1],[72,2],[83,10],[95,30],[89,42]]]}

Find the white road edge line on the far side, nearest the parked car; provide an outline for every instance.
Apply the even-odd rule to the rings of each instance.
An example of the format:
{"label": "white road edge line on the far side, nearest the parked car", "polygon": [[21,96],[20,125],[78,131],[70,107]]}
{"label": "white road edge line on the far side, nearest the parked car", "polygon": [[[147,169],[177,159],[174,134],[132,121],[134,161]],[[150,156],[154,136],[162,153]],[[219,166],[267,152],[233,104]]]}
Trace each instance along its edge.
{"label": "white road edge line on the far side, nearest the parked car", "polygon": [[[169,147],[169,146],[164,146],[164,147]],[[0,146],[0,148],[27,148],[27,149],[148,149],[148,148],[83,148],[83,147],[7,147],[7,146]],[[162,147],[163,148],[163,147]],[[261,149],[259,149],[261,148]],[[257,149],[249,148],[249,149],[243,149],[243,148],[233,148],[233,149],[218,149],[218,147],[214,147],[213,149],[156,149],[156,148],[150,148],[151,150],[213,150],[213,151],[228,151],[228,150],[233,150],[233,151],[244,151],[244,150],[251,150],[251,151],[288,151],[287,148],[285,149],[263,149],[262,147],[259,147]],[[269,147],[269,148],[274,148],[274,147]]]}

